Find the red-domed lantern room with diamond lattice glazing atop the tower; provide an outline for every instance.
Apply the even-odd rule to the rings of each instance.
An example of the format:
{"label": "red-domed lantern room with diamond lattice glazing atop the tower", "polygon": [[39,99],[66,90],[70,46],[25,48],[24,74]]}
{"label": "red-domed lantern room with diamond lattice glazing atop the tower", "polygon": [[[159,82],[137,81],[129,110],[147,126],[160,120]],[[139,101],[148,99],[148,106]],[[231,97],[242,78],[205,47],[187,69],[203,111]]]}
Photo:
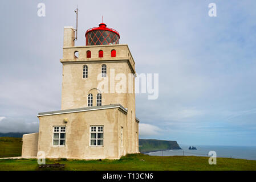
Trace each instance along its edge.
{"label": "red-domed lantern room with diamond lattice glazing atop the tower", "polygon": [[105,23],[86,31],[86,46],[119,44],[119,39],[119,32],[108,28]]}

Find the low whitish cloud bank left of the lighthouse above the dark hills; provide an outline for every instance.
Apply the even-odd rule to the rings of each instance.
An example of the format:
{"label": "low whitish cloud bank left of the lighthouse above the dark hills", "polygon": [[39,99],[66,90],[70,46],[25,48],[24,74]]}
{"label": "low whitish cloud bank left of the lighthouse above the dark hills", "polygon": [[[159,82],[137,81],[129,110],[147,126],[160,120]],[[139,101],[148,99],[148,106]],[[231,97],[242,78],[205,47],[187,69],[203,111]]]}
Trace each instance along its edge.
{"label": "low whitish cloud bank left of the lighthouse above the dark hills", "polygon": [[27,122],[25,119],[0,117],[0,133],[38,132],[39,122]]}

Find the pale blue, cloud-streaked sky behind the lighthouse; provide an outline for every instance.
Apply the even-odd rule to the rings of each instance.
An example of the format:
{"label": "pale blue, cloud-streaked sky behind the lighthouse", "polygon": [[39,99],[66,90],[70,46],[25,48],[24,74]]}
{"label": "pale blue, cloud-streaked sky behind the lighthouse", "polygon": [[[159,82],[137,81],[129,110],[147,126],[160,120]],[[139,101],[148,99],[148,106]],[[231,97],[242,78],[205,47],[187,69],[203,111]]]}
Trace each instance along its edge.
{"label": "pale blue, cloud-streaked sky behind the lighthouse", "polygon": [[0,132],[37,132],[39,112],[60,110],[63,27],[75,27],[76,5],[76,46],[103,15],[136,72],[159,73],[157,100],[136,94],[140,138],[256,145],[254,0],[1,1]]}

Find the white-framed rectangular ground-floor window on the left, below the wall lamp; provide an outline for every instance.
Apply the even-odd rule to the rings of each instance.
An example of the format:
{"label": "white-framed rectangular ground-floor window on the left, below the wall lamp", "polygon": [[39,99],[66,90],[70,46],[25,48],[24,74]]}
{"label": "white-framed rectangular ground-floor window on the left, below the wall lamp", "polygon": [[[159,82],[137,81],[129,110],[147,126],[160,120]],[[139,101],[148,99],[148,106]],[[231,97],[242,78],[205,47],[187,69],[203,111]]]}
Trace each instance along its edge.
{"label": "white-framed rectangular ground-floor window on the left, below the wall lamp", "polygon": [[54,126],[53,127],[53,139],[52,144],[54,146],[65,146],[66,143],[66,126]]}

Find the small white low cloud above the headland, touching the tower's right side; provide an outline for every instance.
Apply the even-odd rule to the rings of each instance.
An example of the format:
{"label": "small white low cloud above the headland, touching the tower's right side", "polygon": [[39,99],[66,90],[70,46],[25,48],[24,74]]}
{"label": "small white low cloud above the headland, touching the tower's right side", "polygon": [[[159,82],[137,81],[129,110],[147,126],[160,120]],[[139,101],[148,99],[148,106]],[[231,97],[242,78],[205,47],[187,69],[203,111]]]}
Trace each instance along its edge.
{"label": "small white low cloud above the headland, touching the tower's right side", "polygon": [[154,125],[149,125],[145,123],[139,124],[139,135],[140,137],[151,137],[153,135],[159,135],[161,129]]}

